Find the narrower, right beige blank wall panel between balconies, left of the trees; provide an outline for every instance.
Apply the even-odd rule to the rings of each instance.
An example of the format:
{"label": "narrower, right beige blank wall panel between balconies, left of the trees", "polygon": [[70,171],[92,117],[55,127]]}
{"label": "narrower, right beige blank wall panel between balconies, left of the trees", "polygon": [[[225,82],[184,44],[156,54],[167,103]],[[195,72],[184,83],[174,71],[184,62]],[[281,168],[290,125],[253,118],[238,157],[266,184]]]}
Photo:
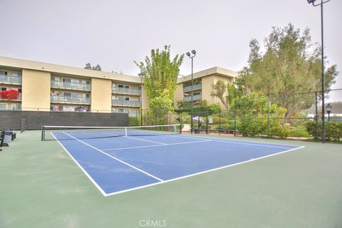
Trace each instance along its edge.
{"label": "narrower, right beige blank wall panel between balconies, left of the trees", "polygon": [[112,81],[91,78],[91,111],[110,113],[112,110]]}

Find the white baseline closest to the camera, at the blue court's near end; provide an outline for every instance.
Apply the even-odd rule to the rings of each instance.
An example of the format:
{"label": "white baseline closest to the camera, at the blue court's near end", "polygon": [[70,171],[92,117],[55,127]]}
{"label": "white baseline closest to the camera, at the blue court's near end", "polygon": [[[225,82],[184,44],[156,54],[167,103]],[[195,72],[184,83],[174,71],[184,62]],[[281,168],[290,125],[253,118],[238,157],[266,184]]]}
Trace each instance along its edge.
{"label": "white baseline closest to the camera, at the blue court's near end", "polygon": [[264,157],[257,157],[257,158],[254,158],[252,160],[247,160],[247,161],[244,161],[244,162],[239,162],[239,163],[234,163],[232,165],[226,165],[226,166],[222,166],[222,167],[217,167],[217,168],[214,168],[212,170],[206,170],[206,171],[202,171],[202,172],[196,172],[194,174],[191,174],[191,175],[186,175],[186,176],[183,176],[183,177],[177,177],[177,178],[174,178],[174,179],[170,179],[170,180],[164,180],[163,182],[157,182],[157,183],[153,183],[153,184],[150,184],[150,185],[143,185],[143,186],[140,186],[140,187],[134,187],[134,188],[130,188],[128,190],[122,190],[122,191],[118,191],[118,192],[112,192],[112,193],[109,193],[107,195],[105,195],[105,197],[108,197],[110,195],[117,195],[117,194],[120,194],[120,193],[123,193],[123,192],[130,192],[130,191],[133,191],[133,190],[139,190],[139,189],[142,189],[142,188],[145,188],[145,187],[150,187],[150,186],[155,186],[155,185],[160,185],[160,184],[164,184],[164,183],[167,183],[167,182],[172,182],[172,181],[175,181],[175,180],[182,180],[182,179],[185,179],[187,177],[193,177],[193,176],[197,176],[197,175],[202,175],[204,173],[207,173],[207,172],[213,172],[213,171],[216,171],[216,170],[222,170],[222,169],[225,169],[227,167],[232,167],[232,166],[235,166],[235,165],[241,165],[241,164],[244,164],[244,163],[247,163],[247,162],[253,162],[255,160],[261,160],[263,158],[266,158],[266,157],[271,157],[271,156],[275,156],[275,155],[280,155],[280,154],[283,154],[285,152],[290,152],[290,151],[293,151],[293,150],[298,150],[298,149],[301,149],[301,148],[304,148],[304,147],[296,147],[296,148],[293,148],[291,150],[284,150],[284,151],[281,151],[281,152],[277,152],[275,154],[272,154],[272,155],[266,155]]}

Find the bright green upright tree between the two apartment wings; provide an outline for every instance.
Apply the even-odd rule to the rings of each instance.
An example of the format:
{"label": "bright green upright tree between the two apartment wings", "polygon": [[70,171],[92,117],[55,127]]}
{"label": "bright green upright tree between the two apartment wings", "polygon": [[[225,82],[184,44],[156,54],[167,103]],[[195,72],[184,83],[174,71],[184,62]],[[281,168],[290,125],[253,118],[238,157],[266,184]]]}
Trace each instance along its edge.
{"label": "bright green upright tree between the two apartment wings", "polygon": [[[145,57],[145,63],[134,62],[140,68],[144,88],[150,101],[156,100],[155,102],[158,102],[157,100],[160,100],[161,102],[162,99],[159,98],[173,100],[183,58],[184,54],[176,55],[171,60],[170,46],[165,46],[162,51],[152,49],[151,56]],[[150,102],[150,108],[161,105]],[[168,109],[172,110],[172,108],[172,103],[170,103]]]}

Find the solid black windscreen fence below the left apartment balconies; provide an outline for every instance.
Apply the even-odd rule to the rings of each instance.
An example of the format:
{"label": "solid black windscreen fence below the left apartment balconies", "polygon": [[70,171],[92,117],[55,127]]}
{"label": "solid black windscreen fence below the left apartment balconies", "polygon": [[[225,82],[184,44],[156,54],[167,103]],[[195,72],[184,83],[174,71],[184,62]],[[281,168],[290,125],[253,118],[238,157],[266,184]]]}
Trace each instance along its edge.
{"label": "solid black windscreen fence below the left apartment balconies", "polygon": [[128,122],[128,113],[0,110],[0,129],[38,130],[42,125],[124,127]]}

